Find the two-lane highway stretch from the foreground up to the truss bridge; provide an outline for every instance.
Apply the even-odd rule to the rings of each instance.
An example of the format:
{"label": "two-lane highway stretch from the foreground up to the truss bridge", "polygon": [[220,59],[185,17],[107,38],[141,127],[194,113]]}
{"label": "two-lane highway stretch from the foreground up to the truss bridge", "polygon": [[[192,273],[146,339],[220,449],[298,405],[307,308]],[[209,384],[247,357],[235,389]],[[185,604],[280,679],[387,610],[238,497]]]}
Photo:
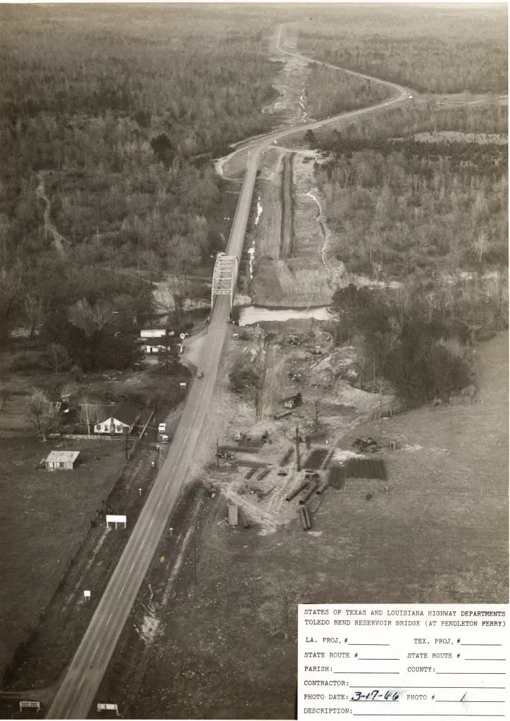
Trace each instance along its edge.
{"label": "two-lane highway stretch from the foreground up to the truss bridge", "polygon": [[[229,298],[214,305],[203,360],[203,379],[195,381],[167,459],[158,474],[138,523],[120,557],[87,632],[69,666],[47,718],[87,717],[120,632],[131,611],[147,568],[156,551],[183,480],[211,401],[221,349],[227,332]],[[128,519],[129,521],[129,519]]]}

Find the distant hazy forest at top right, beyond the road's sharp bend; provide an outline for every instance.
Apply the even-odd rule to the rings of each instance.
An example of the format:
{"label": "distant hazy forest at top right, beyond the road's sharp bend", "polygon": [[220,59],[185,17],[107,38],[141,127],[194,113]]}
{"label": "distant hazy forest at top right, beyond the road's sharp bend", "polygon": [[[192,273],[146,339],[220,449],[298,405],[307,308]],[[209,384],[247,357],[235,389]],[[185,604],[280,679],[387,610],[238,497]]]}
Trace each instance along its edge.
{"label": "distant hazy forest at top right, beyond the road's sharp bend", "polygon": [[299,25],[299,51],[428,93],[505,93],[505,4],[330,4]]}

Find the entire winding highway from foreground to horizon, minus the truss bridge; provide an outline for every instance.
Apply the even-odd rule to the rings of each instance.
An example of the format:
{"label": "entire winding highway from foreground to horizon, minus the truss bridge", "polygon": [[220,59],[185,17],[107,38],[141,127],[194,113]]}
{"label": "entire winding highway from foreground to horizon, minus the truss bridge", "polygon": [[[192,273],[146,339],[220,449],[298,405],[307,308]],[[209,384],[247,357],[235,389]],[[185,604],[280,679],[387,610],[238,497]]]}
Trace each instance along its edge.
{"label": "entire winding highway from foreground to horizon, minus the truss bridge", "polygon": [[[281,30],[282,28],[278,31],[276,41],[281,52],[305,60],[312,59],[279,48]],[[325,64],[331,68],[339,69],[329,63]],[[349,72],[352,75],[376,81],[375,78],[354,73],[353,71]],[[278,141],[280,138],[285,138],[297,131],[302,132],[309,128],[320,128],[322,125],[328,125],[340,119],[351,120],[361,115],[377,112],[382,107],[406,99],[408,91],[400,87],[400,85],[380,80],[377,80],[377,82],[394,89],[395,96],[387,99],[386,102],[336,115],[334,118],[318,120],[316,123],[303,123],[303,125],[286,128],[276,133],[268,133],[267,136],[247,143],[245,147],[252,146],[253,151],[247,161],[245,179],[242,183],[241,194],[239,195],[234,222],[230,231],[227,247],[228,255],[237,255],[240,260],[255,178],[263,151],[268,149],[273,141]],[[167,458],[159,471],[146,504],[141,510],[139,520],[133,528],[105,593],[97,604],[97,609],[66,671],[60,689],[58,689],[55,699],[53,699],[53,704],[46,716],[48,719],[84,719],[89,713],[97,689],[99,689],[102,677],[113,655],[115,644],[128,619],[129,612],[139,592],[141,583],[143,583],[159,539],[167,525],[170,513],[175,506],[183,482],[188,474],[188,468],[193,459],[206,412],[211,402],[221,350],[227,334],[229,313],[229,297],[219,296],[216,298],[214,309],[211,312],[211,323],[208,328],[206,344],[203,349],[203,379],[195,379],[193,382]]]}

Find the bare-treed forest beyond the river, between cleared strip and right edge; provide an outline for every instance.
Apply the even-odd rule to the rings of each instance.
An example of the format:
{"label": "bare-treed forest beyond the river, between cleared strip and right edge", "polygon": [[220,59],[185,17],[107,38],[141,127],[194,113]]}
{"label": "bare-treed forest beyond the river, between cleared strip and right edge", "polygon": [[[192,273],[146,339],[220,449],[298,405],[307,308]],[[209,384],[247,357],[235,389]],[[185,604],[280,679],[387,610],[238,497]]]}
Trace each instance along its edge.
{"label": "bare-treed forest beyond the river, between cleared strip and right edge", "polygon": [[[507,114],[495,104],[408,105],[308,136],[330,151],[315,172],[338,259],[355,272],[375,264],[396,275],[506,267],[508,146],[485,133],[506,132]],[[415,138],[435,131],[479,137]]]}

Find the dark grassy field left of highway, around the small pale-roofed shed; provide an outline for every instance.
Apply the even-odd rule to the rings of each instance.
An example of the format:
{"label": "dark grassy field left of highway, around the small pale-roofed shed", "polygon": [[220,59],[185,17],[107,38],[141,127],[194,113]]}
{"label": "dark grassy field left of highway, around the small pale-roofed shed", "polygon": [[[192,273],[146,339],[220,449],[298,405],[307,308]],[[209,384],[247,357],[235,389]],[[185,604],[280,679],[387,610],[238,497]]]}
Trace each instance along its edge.
{"label": "dark grassy field left of highway, around the small pale-roofed shed", "polygon": [[35,470],[57,448],[18,435],[0,439],[0,671],[35,628],[95,510],[125,460],[122,443],[67,441],[82,464]]}

